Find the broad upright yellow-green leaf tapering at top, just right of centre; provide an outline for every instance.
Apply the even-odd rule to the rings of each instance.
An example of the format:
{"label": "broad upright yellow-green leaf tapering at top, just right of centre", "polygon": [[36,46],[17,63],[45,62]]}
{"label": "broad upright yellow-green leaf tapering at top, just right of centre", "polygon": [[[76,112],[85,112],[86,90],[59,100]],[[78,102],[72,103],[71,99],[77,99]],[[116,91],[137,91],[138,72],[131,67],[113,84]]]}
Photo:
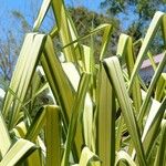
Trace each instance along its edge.
{"label": "broad upright yellow-green leaf tapering at top, just right of centre", "polygon": [[97,154],[103,166],[115,162],[115,94],[105,70],[98,74],[97,101]]}

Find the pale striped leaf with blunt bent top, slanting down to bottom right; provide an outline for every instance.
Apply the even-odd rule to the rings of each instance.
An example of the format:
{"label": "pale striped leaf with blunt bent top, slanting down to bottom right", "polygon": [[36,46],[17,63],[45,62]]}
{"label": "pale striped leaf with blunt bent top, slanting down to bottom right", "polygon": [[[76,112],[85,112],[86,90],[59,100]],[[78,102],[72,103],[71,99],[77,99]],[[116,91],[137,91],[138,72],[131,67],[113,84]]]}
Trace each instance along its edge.
{"label": "pale striped leaf with blunt bent top, slanting down to bottom right", "polygon": [[146,160],[143,145],[141,142],[141,133],[133,113],[132,103],[125,86],[118,59],[116,56],[105,59],[103,65],[117,96],[124,121],[126,123],[127,129],[131,134],[131,138],[136,149],[138,163],[139,165],[145,166]]}

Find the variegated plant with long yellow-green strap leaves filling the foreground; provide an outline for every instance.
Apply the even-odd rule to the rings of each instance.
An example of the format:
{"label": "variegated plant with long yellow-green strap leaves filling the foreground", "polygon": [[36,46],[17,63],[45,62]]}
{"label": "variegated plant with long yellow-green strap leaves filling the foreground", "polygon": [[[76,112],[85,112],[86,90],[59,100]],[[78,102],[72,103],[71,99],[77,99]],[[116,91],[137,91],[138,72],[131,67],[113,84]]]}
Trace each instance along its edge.
{"label": "variegated plant with long yellow-green strap leaves filling the foreground", "polygon": [[[56,23],[43,34],[40,27],[50,8]],[[142,42],[121,34],[116,55],[105,59],[112,29],[105,23],[79,35],[63,0],[43,0],[0,112],[0,166],[165,165],[166,51],[148,87],[139,69],[146,56],[153,60],[157,30],[166,42],[166,14],[155,13]],[[93,37],[98,32],[96,63]],[[64,62],[53,44],[56,38]],[[91,45],[82,44],[85,39]],[[38,107],[34,115],[35,100],[48,89],[53,104]]]}

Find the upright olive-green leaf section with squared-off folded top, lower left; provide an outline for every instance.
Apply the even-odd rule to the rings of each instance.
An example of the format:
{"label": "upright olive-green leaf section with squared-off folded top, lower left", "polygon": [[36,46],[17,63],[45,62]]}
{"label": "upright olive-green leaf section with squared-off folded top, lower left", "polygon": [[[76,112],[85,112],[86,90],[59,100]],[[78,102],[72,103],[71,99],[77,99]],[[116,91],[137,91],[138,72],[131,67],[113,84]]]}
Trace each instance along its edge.
{"label": "upright olive-green leaf section with squared-off folded top, lower left", "polygon": [[61,165],[61,118],[60,108],[49,105],[45,107],[45,145],[46,145],[46,166]]}

